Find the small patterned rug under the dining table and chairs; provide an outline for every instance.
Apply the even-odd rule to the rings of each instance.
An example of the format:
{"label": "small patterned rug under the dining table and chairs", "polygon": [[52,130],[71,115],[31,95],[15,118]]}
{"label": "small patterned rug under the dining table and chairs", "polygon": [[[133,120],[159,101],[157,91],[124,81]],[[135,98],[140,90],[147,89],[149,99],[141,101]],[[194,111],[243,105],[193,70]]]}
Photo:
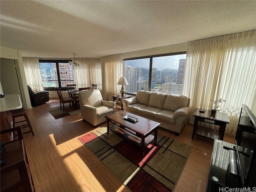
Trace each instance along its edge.
{"label": "small patterned rug under the dining table and chairs", "polygon": [[60,106],[51,107],[51,108],[48,108],[47,110],[50,112],[50,114],[52,114],[52,116],[55,119],[59,119],[59,118],[66,117],[69,115],[74,115],[74,114],[81,112],[79,106],[78,106],[78,109],[74,109],[73,107],[70,107],[69,105],[65,105],[65,111],[63,111],[63,108],[60,109]]}

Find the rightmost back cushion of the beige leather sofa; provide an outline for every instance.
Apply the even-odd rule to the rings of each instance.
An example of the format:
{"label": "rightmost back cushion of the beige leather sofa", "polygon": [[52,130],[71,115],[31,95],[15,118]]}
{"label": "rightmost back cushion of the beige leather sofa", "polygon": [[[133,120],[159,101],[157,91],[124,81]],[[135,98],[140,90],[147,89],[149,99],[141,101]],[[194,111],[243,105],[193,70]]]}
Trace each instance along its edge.
{"label": "rightmost back cushion of the beige leather sofa", "polygon": [[176,111],[181,107],[188,105],[188,98],[184,95],[167,94],[164,101],[163,109]]}

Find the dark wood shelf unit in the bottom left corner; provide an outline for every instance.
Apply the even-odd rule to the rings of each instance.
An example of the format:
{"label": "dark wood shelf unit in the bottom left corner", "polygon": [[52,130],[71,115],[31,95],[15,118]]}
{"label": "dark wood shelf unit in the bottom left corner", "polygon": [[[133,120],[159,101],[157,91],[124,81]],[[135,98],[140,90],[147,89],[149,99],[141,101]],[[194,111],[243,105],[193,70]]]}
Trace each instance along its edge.
{"label": "dark wood shelf unit in the bottom left corner", "polygon": [[1,130],[1,136],[10,132],[17,132],[18,138],[4,143],[1,160],[6,160],[6,163],[1,165],[1,192],[34,192],[34,183],[21,127]]}

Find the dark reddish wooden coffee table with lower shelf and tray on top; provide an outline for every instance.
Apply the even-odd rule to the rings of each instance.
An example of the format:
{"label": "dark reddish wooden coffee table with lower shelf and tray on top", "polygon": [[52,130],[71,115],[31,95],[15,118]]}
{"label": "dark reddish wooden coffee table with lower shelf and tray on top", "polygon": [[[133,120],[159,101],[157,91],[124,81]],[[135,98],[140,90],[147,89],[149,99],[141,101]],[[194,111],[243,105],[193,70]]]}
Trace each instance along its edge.
{"label": "dark reddish wooden coffee table with lower shelf and tray on top", "polygon": [[[124,116],[130,115],[138,118],[136,122],[124,120]],[[117,111],[105,116],[108,122],[107,131],[111,130],[118,136],[141,147],[141,155],[144,156],[145,147],[154,140],[156,144],[157,129],[160,123],[131,114],[125,111]],[[154,132],[154,135],[151,133]]]}

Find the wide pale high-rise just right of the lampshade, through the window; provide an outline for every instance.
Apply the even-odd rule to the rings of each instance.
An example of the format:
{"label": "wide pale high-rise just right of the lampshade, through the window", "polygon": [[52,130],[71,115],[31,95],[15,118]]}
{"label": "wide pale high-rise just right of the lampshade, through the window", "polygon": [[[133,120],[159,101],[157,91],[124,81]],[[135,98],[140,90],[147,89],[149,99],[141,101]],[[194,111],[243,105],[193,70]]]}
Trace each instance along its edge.
{"label": "wide pale high-rise just right of the lampshade, through the window", "polygon": [[125,67],[125,77],[128,85],[125,86],[125,92],[136,93],[142,90],[142,70],[140,67]]}

